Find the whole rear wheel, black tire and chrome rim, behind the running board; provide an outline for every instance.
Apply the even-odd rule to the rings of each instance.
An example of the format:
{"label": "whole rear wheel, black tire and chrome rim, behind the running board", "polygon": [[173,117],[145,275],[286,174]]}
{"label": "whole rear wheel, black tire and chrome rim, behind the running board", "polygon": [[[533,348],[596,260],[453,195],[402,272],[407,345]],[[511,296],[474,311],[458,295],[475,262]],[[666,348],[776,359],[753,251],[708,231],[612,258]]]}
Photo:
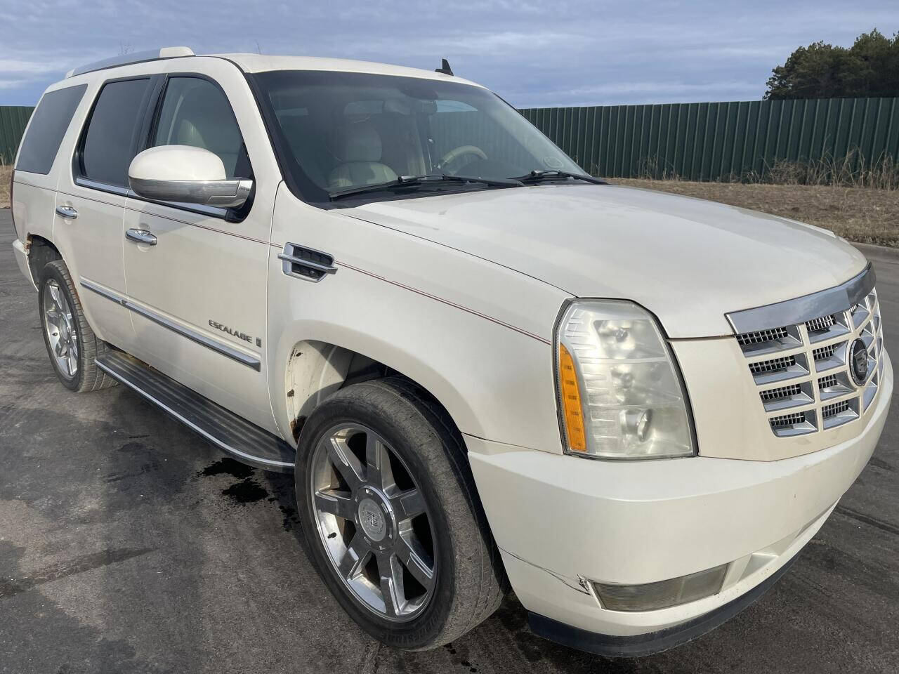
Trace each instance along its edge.
{"label": "whole rear wheel, black tire and chrome rim, behind the running board", "polygon": [[[40,272],[38,288],[41,333],[50,364],[62,385],[77,393],[115,386],[118,382],[94,362],[108,347],[87,324],[66,263],[48,262]],[[56,311],[54,318],[48,314],[49,307]],[[71,339],[61,339],[63,336]]]}

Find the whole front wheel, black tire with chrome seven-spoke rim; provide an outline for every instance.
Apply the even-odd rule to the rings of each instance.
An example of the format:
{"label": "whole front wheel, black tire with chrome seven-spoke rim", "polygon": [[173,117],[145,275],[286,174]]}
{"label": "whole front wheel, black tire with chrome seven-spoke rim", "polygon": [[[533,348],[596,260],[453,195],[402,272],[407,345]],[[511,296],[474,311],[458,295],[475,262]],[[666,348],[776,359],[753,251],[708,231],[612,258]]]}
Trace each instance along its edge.
{"label": "whole front wheel, black tire with chrome seven-spoke rim", "polygon": [[[374,477],[372,462],[364,461],[371,457],[372,440],[377,447],[386,446],[387,454],[378,455],[380,466],[385,465],[384,456],[389,458],[389,471],[377,470]],[[449,415],[402,377],[343,388],[312,412],[300,434],[296,484],[307,554],[346,612],[388,646],[410,651],[437,648],[481,623],[503,600],[507,587],[503,565],[465,455]],[[346,465],[336,467],[334,461],[343,457]],[[353,489],[342,470],[351,471],[351,480],[364,474],[368,482]],[[369,488],[391,482],[394,487],[383,492],[378,493],[380,487]],[[410,498],[414,490],[417,496]],[[364,502],[369,496],[380,510]],[[390,502],[381,502],[384,499]],[[340,503],[330,505],[333,500]],[[325,512],[319,508],[324,502],[329,503],[327,509],[348,517]],[[423,515],[401,521],[421,508]],[[383,537],[380,542],[375,541],[378,536]],[[351,547],[368,554],[369,544],[386,549],[369,551],[368,563],[356,563],[359,577],[349,579],[352,571],[338,570],[341,560],[345,571],[357,558],[349,554]],[[417,555],[407,555],[406,546]],[[375,587],[379,578],[386,577],[382,564],[393,551],[401,566],[391,580],[402,581],[388,585],[389,591],[380,581],[382,608],[377,590],[368,586]],[[387,564],[391,572],[396,569],[393,559]],[[429,561],[431,581],[426,577]],[[422,596],[409,599],[421,590]],[[393,604],[393,615],[386,598]],[[403,616],[401,609],[407,612]]]}

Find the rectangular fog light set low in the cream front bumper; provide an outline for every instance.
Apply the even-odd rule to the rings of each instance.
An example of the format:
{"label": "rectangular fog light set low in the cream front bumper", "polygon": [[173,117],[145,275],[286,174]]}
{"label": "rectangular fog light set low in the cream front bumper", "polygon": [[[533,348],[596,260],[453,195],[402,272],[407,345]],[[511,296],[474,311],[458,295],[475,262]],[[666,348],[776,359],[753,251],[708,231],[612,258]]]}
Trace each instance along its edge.
{"label": "rectangular fog light set low in the cream front bumper", "polygon": [[593,588],[602,607],[610,611],[654,611],[717,594],[721,591],[726,572],[727,564],[721,564],[668,581],[647,582],[644,585],[594,582]]}

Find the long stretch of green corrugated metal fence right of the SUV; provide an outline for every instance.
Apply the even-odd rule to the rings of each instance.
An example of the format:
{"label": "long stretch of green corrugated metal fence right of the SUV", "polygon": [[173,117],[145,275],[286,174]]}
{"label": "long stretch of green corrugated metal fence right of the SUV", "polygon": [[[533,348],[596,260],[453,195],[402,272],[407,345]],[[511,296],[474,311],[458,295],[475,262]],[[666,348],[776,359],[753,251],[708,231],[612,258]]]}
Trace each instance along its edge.
{"label": "long stretch of green corrugated metal fence right of the SUV", "polygon": [[534,108],[521,113],[584,169],[697,181],[780,160],[899,159],[899,98]]}

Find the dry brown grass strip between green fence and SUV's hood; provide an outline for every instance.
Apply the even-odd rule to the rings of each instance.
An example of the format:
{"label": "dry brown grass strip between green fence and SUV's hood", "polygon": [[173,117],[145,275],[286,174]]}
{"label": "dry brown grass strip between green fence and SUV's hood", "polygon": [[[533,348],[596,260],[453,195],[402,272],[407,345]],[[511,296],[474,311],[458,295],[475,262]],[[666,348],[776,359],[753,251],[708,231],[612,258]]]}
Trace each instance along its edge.
{"label": "dry brown grass strip between green fence and SUV's hood", "polygon": [[610,178],[610,181],[761,210],[830,229],[850,241],[899,247],[897,190],[624,178]]}

